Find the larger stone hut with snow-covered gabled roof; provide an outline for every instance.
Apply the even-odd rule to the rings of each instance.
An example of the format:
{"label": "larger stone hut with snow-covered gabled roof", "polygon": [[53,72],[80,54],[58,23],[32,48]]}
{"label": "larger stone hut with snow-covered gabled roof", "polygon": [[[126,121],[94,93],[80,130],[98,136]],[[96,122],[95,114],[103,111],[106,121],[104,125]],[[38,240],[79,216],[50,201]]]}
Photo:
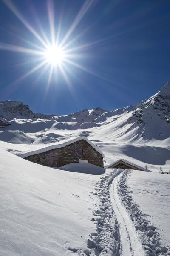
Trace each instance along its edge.
{"label": "larger stone hut with snow-covered gabled roof", "polygon": [[103,168],[104,154],[90,140],[81,136],[53,143],[36,151],[26,151],[19,156],[44,166],[60,167],[68,163],[84,162]]}

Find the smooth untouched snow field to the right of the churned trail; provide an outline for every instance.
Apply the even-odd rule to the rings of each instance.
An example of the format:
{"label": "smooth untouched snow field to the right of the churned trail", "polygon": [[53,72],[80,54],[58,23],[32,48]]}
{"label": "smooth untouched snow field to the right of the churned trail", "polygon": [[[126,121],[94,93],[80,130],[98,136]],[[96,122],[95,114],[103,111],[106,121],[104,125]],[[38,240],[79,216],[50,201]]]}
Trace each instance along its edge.
{"label": "smooth untouched snow field to the right of the churned trail", "polygon": [[132,198],[170,246],[170,175],[132,171],[127,185]]}

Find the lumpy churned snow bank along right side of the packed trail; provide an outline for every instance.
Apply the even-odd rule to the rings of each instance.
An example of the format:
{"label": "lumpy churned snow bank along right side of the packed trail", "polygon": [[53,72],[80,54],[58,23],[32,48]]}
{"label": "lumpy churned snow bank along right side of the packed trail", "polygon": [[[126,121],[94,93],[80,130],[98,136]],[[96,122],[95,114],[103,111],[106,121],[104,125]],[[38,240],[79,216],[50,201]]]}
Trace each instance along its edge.
{"label": "lumpy churned snow bank along right side of the packed trail", "polygon": [[[150,221],[147,220],[147,215],[144,214],[139,205],[137,205],[133,199],[128,185],[127,179],[131,170],[126,169],[122,175],[116,177],[113,181],[117,183],[117,196],[121,200],[124,211],[131,222],[133,221],[133,227],[135,227],[136,232],[138,233],[142,245],[144,247],[146,256],[168,256],[170,255],[170,247],[165,247],[163,241],[160,238],[157,228],[154,227]],[[119,178],[119,179],[118,179]],[[115,192],[116,193],[116,192]],[[119,222],[119,216],[116,216]],[[123,235],[121,233],[121,235]],[[122,238],[123,239],[123,238]],[[124,255],[124,254],[123,254]],[[125,254],[128,255],[129,254]],[[134,254],[134,256],[141,256],[142,254]],[[130,255],[131,256],[131,255]]]}

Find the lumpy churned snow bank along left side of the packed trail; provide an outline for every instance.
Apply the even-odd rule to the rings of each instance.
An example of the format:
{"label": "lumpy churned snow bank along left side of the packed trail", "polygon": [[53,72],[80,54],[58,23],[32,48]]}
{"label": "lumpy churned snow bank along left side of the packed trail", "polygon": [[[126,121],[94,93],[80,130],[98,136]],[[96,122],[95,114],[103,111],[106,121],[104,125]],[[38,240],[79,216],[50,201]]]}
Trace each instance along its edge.
{"label": "lumpy churned snow bank along left side of the packed trail", "polygon": [[[110,187],[112,181],[122,171],[122,169],[114,169],[113,172],[111,170],[109,175],[101,177],[97,183],[94,195],[98,196],[98,202],[94,200],[94,195],[91,195],[94,204],[96,204],[96,210],[93,212],[94,217],[91,219],[96,224],[96,232],[89,235],[86,248],[79,250],[68,248],[68,250],[72,250],[71,255],[119,256],[120,235],[116,215],[111,204]],[[67,255],[70,253],[68,252]]]}

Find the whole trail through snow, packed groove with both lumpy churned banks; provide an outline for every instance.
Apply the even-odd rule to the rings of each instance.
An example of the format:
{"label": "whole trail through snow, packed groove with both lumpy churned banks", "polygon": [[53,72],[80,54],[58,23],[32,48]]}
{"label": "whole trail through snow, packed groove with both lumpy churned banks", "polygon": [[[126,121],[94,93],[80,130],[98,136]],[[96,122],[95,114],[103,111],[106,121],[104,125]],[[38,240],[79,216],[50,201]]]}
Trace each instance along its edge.
{"label": "whole trail through snow, packed groove with both lumpy churned banks", "polygon": [[[96,232],[88,237],[86,248],[68,248],[78,256],[168,256],[169,247],[161,244],[156,227],[150,224],[129,195],[130,170],[114,169],[101,178],[94,190],[98,196],[91,221]],[[68,253],[67,255],[70,255]]]}

